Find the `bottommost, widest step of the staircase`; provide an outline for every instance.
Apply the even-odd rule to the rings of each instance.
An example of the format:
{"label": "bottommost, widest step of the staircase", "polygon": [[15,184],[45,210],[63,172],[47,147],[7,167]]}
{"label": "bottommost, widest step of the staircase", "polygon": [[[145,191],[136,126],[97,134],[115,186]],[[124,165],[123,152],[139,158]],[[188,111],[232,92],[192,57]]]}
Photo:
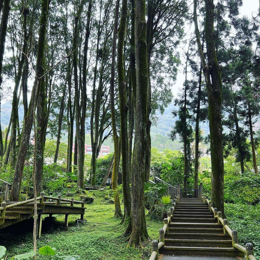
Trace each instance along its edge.
{"label": "bottommost, widest step of the staircase", "polygon": [[183,246],[163,246],[159,253],[172,255],[192,255],[192,256],[239,256],[244,257],[244,253],[234,248],[222,247],[183,247]]}

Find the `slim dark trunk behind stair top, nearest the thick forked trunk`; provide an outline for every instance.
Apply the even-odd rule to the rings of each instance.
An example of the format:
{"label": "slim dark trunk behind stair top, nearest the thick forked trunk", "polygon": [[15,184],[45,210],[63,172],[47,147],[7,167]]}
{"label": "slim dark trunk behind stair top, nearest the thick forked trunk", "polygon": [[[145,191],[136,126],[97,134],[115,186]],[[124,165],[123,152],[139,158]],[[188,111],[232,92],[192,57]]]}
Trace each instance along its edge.
{"label": "slim dark trunk behind stair top, nearest the thick forked trunk", "polygon": [[194,189],[198,189],[198,172],[199,172],[199,116],[200,116],[200,99],[201,99],[201,81],[202,81],[202,64],[199,69],[199,86],[198,86],[198,100],[196,110],[196,126],[195,126],[195,162],[194,162]]}

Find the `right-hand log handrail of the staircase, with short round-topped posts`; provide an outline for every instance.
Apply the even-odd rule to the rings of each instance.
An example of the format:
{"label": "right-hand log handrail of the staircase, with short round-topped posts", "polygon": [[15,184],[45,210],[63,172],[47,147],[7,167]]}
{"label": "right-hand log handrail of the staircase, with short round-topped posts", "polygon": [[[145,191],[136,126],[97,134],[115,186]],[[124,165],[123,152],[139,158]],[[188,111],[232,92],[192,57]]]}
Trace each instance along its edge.
{"label": "right-hand log handrail of the staircase, with short round-topped posts", "polygon": [[222,218],[222,212],[218,211],[217,208],[214,208],[212,203],[209,201],[208,196],[201,195],[201,199],[204,203],[207,203],[209,205],[209,210],[214,213],[214,217],[217,218],[218,224],[223,225],[224,234],[228,233],[232,238],[232,246],[233,248],[236,248],[240,250],[241,252],[245,253],[246,260],[256,260],[254,256],[254,248],[251,243],[246,243],[245,247],[238,244],[238,236],[237,231],[235,229],[231,230],[228,226],[228,220],[226,218]]}

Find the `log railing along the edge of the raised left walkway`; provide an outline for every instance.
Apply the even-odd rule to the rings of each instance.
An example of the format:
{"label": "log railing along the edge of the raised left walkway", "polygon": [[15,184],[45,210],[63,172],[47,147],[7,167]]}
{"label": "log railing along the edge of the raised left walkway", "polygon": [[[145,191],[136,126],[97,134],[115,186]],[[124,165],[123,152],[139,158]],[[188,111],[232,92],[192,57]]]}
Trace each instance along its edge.
{"label": "log railing along the edge of the raised left walkway", "polygon": [[[44,201],[44,199],[49,199],[49,200],[54,200],[54,201]],[[50,197],[50,196],[45,196],[44,192],[41,192],[41,196],[36,198],[37,204],[55,204],[55,205],[61,205],[61,204],[70,204],[71,207],[74,206],[74,204],[81,204],[81,207],[84,207],[84,199],[82,199],[82,201],[78,201],[78,200],[74,200],[74,198],[71,199],[63,199],[61,198],[60,195],[58,195],[57,197]],[[16,206],[20,206],[20,205],[24,205],[24,204],[29,204],[29,203],[33,203],[34,199],[28,199],[28,200],[24,200],[21,202],[8,202],[8,205],[6,205],[6,202],[3,201],[3,194],[0,194],[0,201],[1,201],[1,207],[0,207],[0,217],[4,217],[5,216],[5,211],[7,209],[10,209],[12,207],[16,207]]]}

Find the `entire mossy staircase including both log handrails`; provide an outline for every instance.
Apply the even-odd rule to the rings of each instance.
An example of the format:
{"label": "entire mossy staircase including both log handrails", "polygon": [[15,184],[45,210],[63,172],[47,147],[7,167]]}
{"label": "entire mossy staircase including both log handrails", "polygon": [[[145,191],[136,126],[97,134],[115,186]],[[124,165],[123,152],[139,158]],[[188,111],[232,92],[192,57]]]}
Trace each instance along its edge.
{"label": "entire mossy staircase including both log handrails", "polygon": [[[177,190],[180,192],[179,188]],[[197,193],[200,198],[180,198],[179,194],[181,193],[174,196],[172,207],[164,219],[164,226],[159,230],[159,241],[152,241],[150,260],[158,260],[159,254],[169,255],[166,258],[169,260],[176,259],[173,255],[246,255],[247,260],[256,259],[251,243],[247,243],[245,247],[238,244],[237,231],[229,228],[228,220],[222,219],[222,213],[202,194],[202,184]]]}

